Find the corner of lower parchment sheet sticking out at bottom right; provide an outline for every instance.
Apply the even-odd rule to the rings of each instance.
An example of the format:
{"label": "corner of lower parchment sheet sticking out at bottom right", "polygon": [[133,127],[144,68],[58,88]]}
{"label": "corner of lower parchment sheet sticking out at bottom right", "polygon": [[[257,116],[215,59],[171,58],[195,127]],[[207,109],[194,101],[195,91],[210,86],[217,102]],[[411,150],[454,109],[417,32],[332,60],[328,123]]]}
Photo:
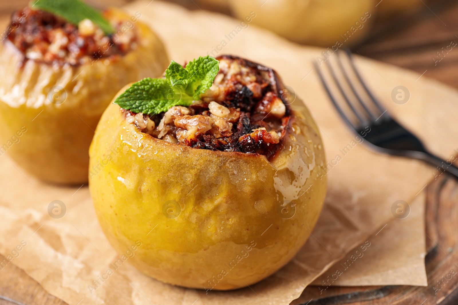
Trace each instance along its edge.
{"label": "corner of lower parchment sheet sticking out at bottom right", "polygon": [[328,286],[428,286],[425,195],[425,191],[420,192],[410,203],[410,213],[406,218],[387,222],[311,285],[321,286],[320,291]]}

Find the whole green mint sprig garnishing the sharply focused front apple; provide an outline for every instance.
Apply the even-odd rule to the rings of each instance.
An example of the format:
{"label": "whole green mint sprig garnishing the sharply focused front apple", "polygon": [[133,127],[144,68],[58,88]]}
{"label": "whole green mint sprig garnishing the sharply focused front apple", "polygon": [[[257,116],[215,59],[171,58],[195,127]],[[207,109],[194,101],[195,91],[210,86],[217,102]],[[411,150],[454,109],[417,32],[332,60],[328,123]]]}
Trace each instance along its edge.
{"label": "whole green mint sprig garnishing the sharply focused front apple", "polygon": [[165,78],[140,80],[121,93],[114,103],[125,110],[145,114],[165,112],[172,106],[189,106],[212,86],[219,71],[218,64],[218,60],[205,56],[192,60],[183,69],[172,60],[165,70]]}

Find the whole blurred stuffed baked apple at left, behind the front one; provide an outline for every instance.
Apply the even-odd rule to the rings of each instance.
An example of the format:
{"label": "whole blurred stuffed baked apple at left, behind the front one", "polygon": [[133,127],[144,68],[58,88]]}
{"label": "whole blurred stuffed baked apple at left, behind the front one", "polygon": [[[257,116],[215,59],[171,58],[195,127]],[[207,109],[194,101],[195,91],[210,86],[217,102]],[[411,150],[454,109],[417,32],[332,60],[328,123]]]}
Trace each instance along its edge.
{"label": "whole blurred stuffed baked apple at left, behind the front one", "polygon": [[[162,75],[169,61],[139,12],[130,16],[109,8],[98,24],[89,18],[71,22],[58,14],[59,7],[57,13],[38,9],[74,1],[82,7],[78,0],[40,0],[15,12],[0,43],[0,143],[21,134],[0,154],[8,151],[44,181],[67,184],[87,182],[89,145],[116,92],[139,78]],[[99,13],[87,9],[93,10],[89,16]],[[104,32],[107,27],[111,31]]]}

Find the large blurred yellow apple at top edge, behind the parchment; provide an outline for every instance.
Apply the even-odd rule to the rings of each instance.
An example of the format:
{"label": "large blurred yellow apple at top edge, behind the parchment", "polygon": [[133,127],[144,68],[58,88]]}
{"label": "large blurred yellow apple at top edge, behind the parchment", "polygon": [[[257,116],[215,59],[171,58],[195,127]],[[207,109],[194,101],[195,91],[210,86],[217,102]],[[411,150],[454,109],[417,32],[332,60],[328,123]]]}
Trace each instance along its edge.
{"label": "large blurred yellow apple at top edge, behind the parchment", "polygon": [[323,47],[358,43],[375,19],[373,0],[229,0],[229,6],[242,20]]}

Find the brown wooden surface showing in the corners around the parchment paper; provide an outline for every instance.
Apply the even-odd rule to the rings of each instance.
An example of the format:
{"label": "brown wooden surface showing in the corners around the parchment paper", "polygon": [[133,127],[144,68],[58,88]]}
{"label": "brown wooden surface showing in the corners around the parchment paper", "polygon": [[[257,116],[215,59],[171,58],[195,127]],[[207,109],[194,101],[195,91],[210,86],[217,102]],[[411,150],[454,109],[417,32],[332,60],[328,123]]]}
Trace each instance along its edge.
{"label": "brown wooden surface showing in the corners around the parchment paper", "polygon": [[[15,5],[28,0],[18,0]],[[106,0],[98,0],[106,2]],[[190,9],[193,0],[173,0]],[[116,3],[122,3],[117,0]],[[424,1],[426,2],[426,1]],[[197,1],[197,3],[199,3]],[[0,3],[0,15],[7,16],[12,5]],[[411,16],[400,16],[378,22],[371,37],[353,48],[354,52],[390,64],[405,67],[458,88],[458,48],[440,57],[437,52],[451,42],[458,43],[458,1],[431,0],[425,8]],[[5,18],[3,18],[5,21]],[[4,27],[4,22],[0,26]],[[436,58],[434,60],[433,58]],[[457,145],[458,146],[458,145]],[[372,286],[331,287],[323,294],[317,287],[307,287],[291,305],[456,305],[458,276],[447,279],[452,270],[458,272],[458,182],[443,174],[427,187],[425,258],[428,287]],[[0,255],[0,260],[4,257]],[[448,276],[450,278],[450,276]],[[21,269],[8,264],[0,272],[0,305],[64,305],[48,294]]]}

